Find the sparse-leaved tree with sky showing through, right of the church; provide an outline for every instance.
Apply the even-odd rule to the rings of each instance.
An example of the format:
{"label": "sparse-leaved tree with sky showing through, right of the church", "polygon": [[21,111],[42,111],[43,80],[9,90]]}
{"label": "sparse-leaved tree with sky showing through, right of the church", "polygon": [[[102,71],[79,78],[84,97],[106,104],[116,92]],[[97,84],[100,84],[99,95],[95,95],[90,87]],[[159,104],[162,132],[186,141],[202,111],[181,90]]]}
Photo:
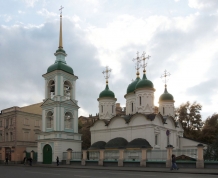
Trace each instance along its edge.
{"label": "sparse-leaved tree with sky showing through, right of the church", "polygon": [[190,103],[187,101],[181,104],[176,109],[178,120],[182,123],[184,129],[184,136],[187,138],[198,140],[199,133],[202,128],[201,111],[202,106],[197,103]]}

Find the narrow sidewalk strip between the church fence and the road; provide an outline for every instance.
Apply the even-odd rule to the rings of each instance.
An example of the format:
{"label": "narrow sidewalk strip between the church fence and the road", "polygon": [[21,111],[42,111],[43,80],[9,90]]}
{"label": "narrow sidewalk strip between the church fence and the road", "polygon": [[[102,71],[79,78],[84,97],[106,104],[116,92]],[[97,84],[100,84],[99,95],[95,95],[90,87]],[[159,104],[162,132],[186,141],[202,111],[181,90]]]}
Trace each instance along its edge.
{"label": "narrow sidewalk strip between the church fence and the road", "polygon": [[[28,167],[29,165],[23,164],[9,164],[0,166],[19,166]],[[67,169],[92,169],[92,170],[110,170],[110,171],[137,171],[137,172],[164,172],[164,173],[189,173],[189,174],[213,174],[218,175],[218,169],[191,169],[181,168],[179,170],[170,170],[169,168],[149,168],[149,167],[104,167],[104,166],[74,166],[74,165],[59,165],[55,164],[33,164],[33,167],[44,167],[44,168],[67,168]]]}

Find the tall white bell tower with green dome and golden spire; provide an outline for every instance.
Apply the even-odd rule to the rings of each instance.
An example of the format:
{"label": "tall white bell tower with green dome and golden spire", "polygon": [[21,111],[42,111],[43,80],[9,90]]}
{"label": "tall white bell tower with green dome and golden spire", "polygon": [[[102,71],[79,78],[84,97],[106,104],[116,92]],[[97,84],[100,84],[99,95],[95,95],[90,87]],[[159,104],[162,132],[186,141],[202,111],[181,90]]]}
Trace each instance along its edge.
{"label": "tall white bell tower with green dome and golden spire", "polygon": [[81,135],[78,134],[78,109],[76,80],[73,69],[67,65],[62,44],[62,15],[60,15],[59,47],[55,63],[43,75],[45,99],[42,103],[42,132],[38,136],[38,162],[51,164],[63,152],[81,151]]}

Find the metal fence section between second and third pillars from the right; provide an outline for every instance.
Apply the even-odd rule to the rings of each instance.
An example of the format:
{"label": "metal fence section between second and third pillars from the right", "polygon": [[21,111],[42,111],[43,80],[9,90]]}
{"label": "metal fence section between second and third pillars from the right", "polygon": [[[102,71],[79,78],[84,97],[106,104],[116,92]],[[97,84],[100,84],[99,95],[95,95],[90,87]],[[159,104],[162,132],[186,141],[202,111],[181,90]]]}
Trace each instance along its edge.
{"label": "metal fence section between second and third pillars from the right", "polygon": [[147,150],[147,161],[166,161],[167,150]]}

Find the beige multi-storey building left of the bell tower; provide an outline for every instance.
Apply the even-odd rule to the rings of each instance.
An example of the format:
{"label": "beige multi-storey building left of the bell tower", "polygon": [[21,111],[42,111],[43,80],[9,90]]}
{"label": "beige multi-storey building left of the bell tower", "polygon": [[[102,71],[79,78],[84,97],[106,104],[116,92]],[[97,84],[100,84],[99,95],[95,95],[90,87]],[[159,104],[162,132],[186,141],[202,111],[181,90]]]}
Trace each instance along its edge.
{"label": "beige multi-storey building left of the bell tower", "polygon": [[41,131],[41,104],[14,106],[1,111],[0,160],[22,161],[28,147],[37,147],[37,134]]}

